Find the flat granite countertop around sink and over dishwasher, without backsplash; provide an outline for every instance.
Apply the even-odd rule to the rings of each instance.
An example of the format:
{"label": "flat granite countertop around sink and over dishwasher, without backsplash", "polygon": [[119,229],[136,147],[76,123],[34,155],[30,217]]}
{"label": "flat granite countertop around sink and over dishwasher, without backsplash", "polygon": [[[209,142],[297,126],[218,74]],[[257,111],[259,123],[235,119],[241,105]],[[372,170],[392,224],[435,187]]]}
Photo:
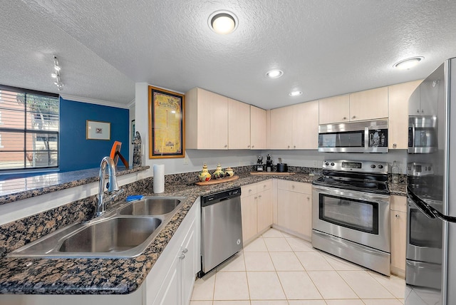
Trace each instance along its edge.
{"label": "flat granite countertop around sink and over dishwasher, without backsplash", "polygon": [[206,186],[169,183],[165,192],[157,195],[186,197],[185,202],[140,256],[130,259],[4,257],[0,259],[0,294],[130,294],[142,284],[197,197],[272,177],[311,183],[318,176],[242,175],[239,180]]}

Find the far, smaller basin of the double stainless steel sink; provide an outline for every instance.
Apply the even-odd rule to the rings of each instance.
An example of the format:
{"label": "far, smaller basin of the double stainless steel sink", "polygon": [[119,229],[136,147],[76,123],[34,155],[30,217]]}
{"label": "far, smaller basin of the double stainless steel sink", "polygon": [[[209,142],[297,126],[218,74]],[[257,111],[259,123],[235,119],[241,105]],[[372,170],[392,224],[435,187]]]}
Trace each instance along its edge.
{"label": "far, smaller basin of the double stainless steel sink", "polygon": [[163,215],[170,213],[182,201],[176,198],[147,198],[120,209],[121,215]]}

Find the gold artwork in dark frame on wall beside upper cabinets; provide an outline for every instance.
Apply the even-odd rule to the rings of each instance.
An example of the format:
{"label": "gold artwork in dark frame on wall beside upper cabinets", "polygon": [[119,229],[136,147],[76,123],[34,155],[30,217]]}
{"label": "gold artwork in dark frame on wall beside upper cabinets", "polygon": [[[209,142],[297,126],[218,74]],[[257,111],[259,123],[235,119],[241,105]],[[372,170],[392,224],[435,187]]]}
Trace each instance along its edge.
{"label": "gold artwork in dark frame on wall beside upper cabinets", "polygon": [[149,158],[185,157],[185,95],[149,86]]}

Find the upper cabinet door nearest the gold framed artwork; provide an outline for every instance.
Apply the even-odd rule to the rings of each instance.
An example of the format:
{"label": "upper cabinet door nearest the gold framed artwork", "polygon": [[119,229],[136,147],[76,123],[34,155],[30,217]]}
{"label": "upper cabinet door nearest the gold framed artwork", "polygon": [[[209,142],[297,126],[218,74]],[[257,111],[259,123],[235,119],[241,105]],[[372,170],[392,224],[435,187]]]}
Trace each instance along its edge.
{"label": "upper cabinet door nearest the gold framed artwork", "polygon": [[228,149],[228,99],[198,88],[199,149]]}

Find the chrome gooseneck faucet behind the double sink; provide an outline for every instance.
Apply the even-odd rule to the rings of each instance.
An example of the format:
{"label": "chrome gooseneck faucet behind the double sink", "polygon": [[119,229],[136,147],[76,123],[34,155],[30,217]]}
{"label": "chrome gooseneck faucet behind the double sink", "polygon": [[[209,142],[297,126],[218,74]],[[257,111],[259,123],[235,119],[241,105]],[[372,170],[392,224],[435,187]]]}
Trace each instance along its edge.
{"label": "chrome gooseneck faucet behind the double sink", "polygon": [[[108,197],[105,198],[106,167],[108,167],[108,183],[106,184],[106,188],[108,189]],[[111,192],[114,193],[111,195]],[[95,217],[104,214],[108,202],[114,200],[114,198],[121,193],[123,193],[123,190],[119,190],[119,186],[117,184],[114,161],[110,157],[103,157],[103,160],[101,160],[100,163],[100,183],[98,185],[98,203],[95,209]]]}

